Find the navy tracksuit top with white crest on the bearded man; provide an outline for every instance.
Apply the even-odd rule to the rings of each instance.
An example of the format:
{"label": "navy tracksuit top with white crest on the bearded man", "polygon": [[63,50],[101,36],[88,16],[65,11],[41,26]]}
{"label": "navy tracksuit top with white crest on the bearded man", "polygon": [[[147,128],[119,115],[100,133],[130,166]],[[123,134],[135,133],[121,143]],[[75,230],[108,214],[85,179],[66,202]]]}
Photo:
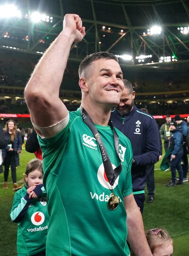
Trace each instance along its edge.
{"label": "navy tracksuit top with white crest on the bearded man", "polygon": [[144,190],[146,183],[146,165],[156,163],[160,155],[160,139],[155,119],[135,105],[124,116],[116,109],[111,113],[113,125],[130,140],[133,159],[131,175],[133,192]]}

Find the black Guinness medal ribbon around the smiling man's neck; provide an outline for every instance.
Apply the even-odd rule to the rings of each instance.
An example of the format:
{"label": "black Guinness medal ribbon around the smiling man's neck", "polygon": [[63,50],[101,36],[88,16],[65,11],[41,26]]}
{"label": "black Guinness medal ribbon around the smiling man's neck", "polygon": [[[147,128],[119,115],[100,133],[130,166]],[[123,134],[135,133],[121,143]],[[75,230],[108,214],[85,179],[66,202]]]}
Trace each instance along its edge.
{"label": "black Guinness medal ribbon around the smiling man's neck", "polygon": [[[79,110],[81,112],[83,122],[86,123],[86,125],[89,127],[89,129],[93,133],[93,135],[94,135],[94,137],[95,137],[95,139],[98,143],[98,146],[100,148],[100,152],[101,152],[101,155],[102,155],[102,159],[103,159],[103,166],[104,166],[104,170],[105,170],[105,173],[106,173],[106,177],[107,177],[110,185],[113,186],[115,180],[120,175],[120,172],[122,170],[122,163],[120,163],[120,165],[113,170],[110,158],[109,158],[108,153],[106,151],[106,148],[105,148],[105,146],[104,146],[104,144],[101,140],[101,137],[100,137],[96,127],[94,126],[93,121],[91,120],[90,116],[86,113],[86,110],[82,106],[79,107]],[[111,126],[111,128],[113,130],[115,150],[116,150],[118,158],[120,159],[118,134],[116,133],[116,131],[115,131],[113,125],[112,125],[112,122],[109,121],[108,124]]]}

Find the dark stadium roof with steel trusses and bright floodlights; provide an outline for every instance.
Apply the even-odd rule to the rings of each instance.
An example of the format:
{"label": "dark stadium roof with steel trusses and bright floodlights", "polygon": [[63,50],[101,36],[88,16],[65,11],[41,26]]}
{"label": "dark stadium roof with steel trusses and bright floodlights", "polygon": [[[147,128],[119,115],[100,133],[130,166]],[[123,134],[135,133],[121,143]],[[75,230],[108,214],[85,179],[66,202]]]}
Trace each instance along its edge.
{"label": "dark stadium roof with steel trusses and bright floodlights", "polygon": [[2,6],[12,2],[0,1],[2,49],[43,55],[64,15],[77,13],[86,37],[71,47],[72,62],[110,51],[128,68],[189,68],[188,0],[15,0],[20,12],[10,17]]}

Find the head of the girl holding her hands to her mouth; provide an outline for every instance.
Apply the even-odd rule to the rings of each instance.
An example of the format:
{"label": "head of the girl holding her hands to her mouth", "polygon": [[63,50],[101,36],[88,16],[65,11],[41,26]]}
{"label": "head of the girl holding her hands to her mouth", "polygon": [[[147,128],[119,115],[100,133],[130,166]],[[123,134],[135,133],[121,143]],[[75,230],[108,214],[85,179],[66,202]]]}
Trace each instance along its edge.
{"label": "head of the girl holding her hands to her mouth", "polygon": [[26,166],[25,183],[28,187],[43,184],[43,164],[38,158],[28,162]]}

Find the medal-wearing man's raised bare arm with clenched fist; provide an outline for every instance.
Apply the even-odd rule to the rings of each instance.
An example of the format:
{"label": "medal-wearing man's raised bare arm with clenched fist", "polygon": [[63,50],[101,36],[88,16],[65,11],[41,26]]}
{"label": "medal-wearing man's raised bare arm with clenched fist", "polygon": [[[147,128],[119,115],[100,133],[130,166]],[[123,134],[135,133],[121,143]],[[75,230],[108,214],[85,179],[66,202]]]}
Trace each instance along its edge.
{"label": "medal-wearing man's raised bare arm with clenched fist", "polygon": [[66,14],[63,30],[44,53],[26,85],[25,98],[33,123],[41,127],[56,124],[68,116],[59,98],[59,89],[72,43],[85,36],[77,14]]}

